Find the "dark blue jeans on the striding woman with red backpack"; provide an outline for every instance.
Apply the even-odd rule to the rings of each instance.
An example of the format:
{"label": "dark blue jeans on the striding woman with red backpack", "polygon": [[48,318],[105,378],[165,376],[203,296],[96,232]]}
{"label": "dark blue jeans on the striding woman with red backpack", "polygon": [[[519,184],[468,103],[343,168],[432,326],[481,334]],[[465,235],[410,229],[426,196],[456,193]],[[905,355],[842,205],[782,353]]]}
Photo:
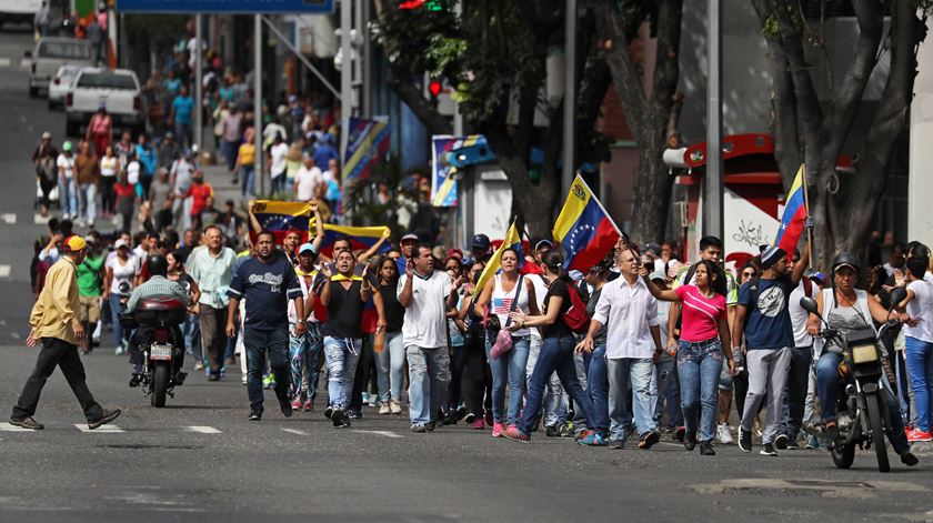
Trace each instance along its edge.
{"label": "dark blue jeans on the striding woman with red backpack", "polygon": [[534,420],[538,419],[541,411],[541,403],[544,398],[544,386],[551,379],[551,374],[555,371],[561,380],[564,389],[573,398],[573,401],[583,411],[586,418],[586,426],[604,433],[606,426],[598,425],[592,419],[593,401],[590,395],[580,385],[580,380],[576,378],[576,364],[573,360],[573,349],[575,342],[572,336],[566,338],[545,338],[541,344],[541,351],[538,354],[538,362],[534,364],[534,371],[531,373],[531,381],[528,386],[528,403],[524,409],[524,416],[522,420],[522,431],[525,434],[531,433],[534,426]]}

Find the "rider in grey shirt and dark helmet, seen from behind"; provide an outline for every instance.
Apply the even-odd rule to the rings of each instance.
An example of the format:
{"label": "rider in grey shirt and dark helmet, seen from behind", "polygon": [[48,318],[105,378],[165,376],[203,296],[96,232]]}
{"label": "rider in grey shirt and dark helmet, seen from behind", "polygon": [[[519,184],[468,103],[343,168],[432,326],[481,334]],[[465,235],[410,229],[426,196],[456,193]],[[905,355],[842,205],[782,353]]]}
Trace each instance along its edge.
{"label": "rider in grey shirt and dark helmet, seen from behind", "polygon": [[[164,298],[178,300],[184,304],[185,308],[191,306],[191,299],[188,290],[178,282],[171,281],[167,278],[169,273],[169,262],[162,254],[152,254],[146,260],[149,270],[149,280],[146,283],[133,289],[129,302],[127,302],[127,313],[132,313],[136,310],[140,300],[149,300],[152,298]],[[153,326],[140,325],[130,336],[130,363],[133,365],[133,374],[130,379],[130,386],[139,386],[142,381],[142,352],[139,346],[149,339]],[[184,363],[184,336],[181,334],[179,325],[172,325],[172,338],[175,343],[180,344],[181,355],[172,360],[172,380],[175,384],[181,384],[188,375],[181,370],[181,364]]]}

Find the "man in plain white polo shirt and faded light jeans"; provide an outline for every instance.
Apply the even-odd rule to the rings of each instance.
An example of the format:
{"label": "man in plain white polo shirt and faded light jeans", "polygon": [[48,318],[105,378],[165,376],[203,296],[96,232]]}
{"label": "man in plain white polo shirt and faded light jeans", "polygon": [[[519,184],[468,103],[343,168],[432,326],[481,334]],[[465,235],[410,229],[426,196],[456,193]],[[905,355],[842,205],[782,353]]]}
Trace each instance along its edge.
{"label": "man in plain white polo shirt and faded light jeans", "polygon": [[450,383],[447,312],[457,306],[460,278],[454,281],[434,270],[431,247],[421,244],[414,252],[399,280],[398,294],[405,308],[402,340],[409,363],[411,431],[428,432],[437,426]]}

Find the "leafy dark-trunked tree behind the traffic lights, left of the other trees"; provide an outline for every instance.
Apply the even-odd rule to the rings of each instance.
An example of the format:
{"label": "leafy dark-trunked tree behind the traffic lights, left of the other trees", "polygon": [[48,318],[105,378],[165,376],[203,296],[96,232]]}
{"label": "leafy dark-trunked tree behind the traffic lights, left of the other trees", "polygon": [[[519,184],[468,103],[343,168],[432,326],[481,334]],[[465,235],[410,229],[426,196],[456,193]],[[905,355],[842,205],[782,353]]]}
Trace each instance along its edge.
{"label": "leafy dark-trunked tree behind the traffic lights, left of the other trees", "polygon": [[[389,58],[389,87],[432,133],[451,124],[421,94],[424,71],[455,89],[469,128],[482,133],[512,187],[512,210],[532,234],[550,235],[561,197],[559,160],[563,120],[560,103],[542,98],[549,48],[560,42],[563,0],[476,0],[461,12],[452,0],[438,0],[438,11],[400,11],[385,2],[379,11],[378,41]],[[606,159],[606,142],[595,120],[610,77],[595,49],[593,17],[579,13],[582,30],[576,92],[578,163]],[[535,112],[550,124],[534,125]],[[529,177],[532,148],[541,148],[540,179]],[[659,155],[660,158],[660,155]]]}

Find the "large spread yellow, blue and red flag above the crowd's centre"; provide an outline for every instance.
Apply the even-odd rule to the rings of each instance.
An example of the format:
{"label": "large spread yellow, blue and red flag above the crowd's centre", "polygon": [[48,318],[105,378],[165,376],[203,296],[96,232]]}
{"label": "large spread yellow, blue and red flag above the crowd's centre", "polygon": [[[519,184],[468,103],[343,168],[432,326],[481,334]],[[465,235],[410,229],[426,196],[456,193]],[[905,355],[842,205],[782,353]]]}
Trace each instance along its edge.
{"label": "large spread yellow, blue and red flag above the crowd's centre", "polygon": [[582,272],[599,263],[622,237],[580,174],[570,185],[553,232],[566,257],[564,269]]}

